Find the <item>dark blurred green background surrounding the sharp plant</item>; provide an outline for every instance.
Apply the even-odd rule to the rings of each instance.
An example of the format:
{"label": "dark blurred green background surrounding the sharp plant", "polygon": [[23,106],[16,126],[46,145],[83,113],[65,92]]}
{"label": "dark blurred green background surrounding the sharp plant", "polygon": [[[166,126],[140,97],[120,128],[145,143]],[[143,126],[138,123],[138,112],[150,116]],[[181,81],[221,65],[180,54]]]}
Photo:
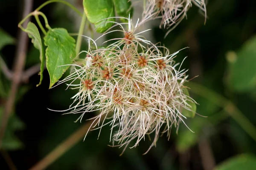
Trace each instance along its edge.
{"label": "dark blurred green background surrounding the sharp plant", "polygon": [[[33,9],[44,2],[34,0]],[[82,0],[69,2],[82,10]],[[189,68],[193,78],[189,93],[199,103],[197,113],[202,116],[189,118],[186,124],[195,133],[181,124],[178,134],[173,128],[171,139],[163,135],[148,154],[143,155],[151,144],[146,139],[119,156],[122,148],[108,146],[110,130],[104,127],[98,140],[98,131],[90,132],[84,142],[79,140],[47,169],[256,170],[255,8],[255,0],[208,0],[205,25],[204,15],[193,6],[187,19],[166,39],[166,30],[157,26],[159,21],[148,25],[152,31],[147,36],[171,52],[189,47],[176,60],[181,62],[187,56],[183,68]],[[0,47],[0,56],[9,68],[14,63],[22,10],[23,0],[0,0],[0,43],[4,44],[4,35],[13,37]],[[52,28],[78,32],[81,17],[63,4],[51,3],[41,11]],[[82,49],[86,47],[83,43]],[[29,42],[25,68],[39,62],[39,52]],[[0,154],[1,170],[29,169],[86,123],[85,119],[74,123],[79,115],[47,109],[67,109],[76,91],[65,90],[65,85],[48,89],[47,71],[42,85],[36,87],[38,82],[35,74],[20,85]],[[10,85],[11,80],[0,69],[0,120]]]}

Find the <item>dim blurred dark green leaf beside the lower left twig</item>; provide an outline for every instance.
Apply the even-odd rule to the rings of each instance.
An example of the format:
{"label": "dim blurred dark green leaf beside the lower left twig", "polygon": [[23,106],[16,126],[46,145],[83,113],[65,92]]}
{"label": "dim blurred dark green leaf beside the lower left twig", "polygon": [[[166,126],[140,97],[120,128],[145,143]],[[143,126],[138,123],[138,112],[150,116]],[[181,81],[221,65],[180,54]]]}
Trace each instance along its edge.
{"label": "dim blurred dark green leaf beside the lower left twig", "polygon": [[[3,108],[0,108],[0,122],[3,117]],[[6,127],[2,147],[5,150],[16,150],[23,147],[22,142],[15,136],[15,131],[22,130],[25,124],[15,115],[12,114]]]}

